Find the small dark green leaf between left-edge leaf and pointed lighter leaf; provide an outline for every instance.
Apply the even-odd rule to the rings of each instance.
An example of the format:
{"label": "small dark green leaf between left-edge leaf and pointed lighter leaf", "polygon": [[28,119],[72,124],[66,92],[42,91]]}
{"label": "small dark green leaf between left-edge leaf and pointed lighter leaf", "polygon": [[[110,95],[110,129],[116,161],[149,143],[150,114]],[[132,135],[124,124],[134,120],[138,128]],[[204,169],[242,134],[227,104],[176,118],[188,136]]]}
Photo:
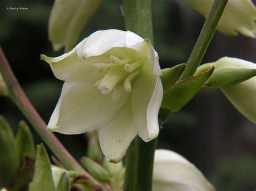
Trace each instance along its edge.
{"label": "small dark green leaf between left-edge leaf and pointed lighter leaf", "polygon": [[19,161],[22,162],[24,155],[35,158],[35,145],[32,133],[25,121],[19,122],[19,129],[16,135],[16,146],[19,155]]}

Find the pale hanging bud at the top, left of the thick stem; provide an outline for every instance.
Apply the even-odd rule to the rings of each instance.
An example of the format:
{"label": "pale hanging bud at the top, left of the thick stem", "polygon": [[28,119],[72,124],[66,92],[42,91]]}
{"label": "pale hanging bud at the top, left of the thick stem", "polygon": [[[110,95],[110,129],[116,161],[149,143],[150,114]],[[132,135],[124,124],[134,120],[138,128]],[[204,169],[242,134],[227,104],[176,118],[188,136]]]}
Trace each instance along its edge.
{"label": "pale hanging bud at the top, left of the thick stem", "polygon": [[87,20],[98,9],[102,0],[55,0],[49,19],[49,40],[53,49],[65,47],[70,51],[77,44]]}

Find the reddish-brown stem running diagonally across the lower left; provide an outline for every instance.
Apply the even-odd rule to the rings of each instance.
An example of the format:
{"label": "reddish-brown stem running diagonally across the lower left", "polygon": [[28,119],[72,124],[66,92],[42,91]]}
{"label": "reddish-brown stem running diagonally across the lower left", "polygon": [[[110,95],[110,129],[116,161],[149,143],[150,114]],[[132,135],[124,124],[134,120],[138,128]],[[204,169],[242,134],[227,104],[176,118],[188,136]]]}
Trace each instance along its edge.
{"label": "reddish-brown stem running diagonally across the lower left", "polygon": [[19,85],[14,73],[11,70],[8,60],[6,59],[2,48],[0,47],[0,72],[8,88],[9,97],[22,111],[24,116],[31,123],[38,135],[43,139],[45,144],[51,149],[56,157],[68,170],[76,170],[82,172],[87,179],[91,180],[93,187],[100,190],[102,187],[80,164],[72,157],[66,148],[59,142],[57,137],[46,129],[46,124],[39,116],[38,112],[33,108],[28,97]]}

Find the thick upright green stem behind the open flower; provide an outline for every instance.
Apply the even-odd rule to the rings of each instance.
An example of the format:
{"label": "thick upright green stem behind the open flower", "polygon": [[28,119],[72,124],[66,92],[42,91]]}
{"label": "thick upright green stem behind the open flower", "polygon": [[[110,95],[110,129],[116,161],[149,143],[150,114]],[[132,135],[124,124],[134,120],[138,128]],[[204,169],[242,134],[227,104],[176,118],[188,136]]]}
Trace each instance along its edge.
{"label": "thick upright green stem behind the open flower", "polygon": [[[125,26],[153,44],[151,0],[124,0]],[[126,154],[124,191],[151,191],[157,140],[143,142],[138,136]]]}

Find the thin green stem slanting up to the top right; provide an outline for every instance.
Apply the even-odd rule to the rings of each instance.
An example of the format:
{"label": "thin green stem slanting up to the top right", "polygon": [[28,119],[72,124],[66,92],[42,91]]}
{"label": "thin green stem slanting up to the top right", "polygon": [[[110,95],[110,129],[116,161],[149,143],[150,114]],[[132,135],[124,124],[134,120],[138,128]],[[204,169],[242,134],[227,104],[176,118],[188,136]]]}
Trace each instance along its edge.
{"label": "thin green stem slanting up to the top right", "polygon": [[211,10],[209,11],[205,20],[203,29],[201,30],[193,51],[187,60],[187,66],[180,76],[180,80],[193,76],[200,65],[208,45],[213,37],[216,27],[219,23],[221,15],[226,7],[228,0],[214,0]]}

